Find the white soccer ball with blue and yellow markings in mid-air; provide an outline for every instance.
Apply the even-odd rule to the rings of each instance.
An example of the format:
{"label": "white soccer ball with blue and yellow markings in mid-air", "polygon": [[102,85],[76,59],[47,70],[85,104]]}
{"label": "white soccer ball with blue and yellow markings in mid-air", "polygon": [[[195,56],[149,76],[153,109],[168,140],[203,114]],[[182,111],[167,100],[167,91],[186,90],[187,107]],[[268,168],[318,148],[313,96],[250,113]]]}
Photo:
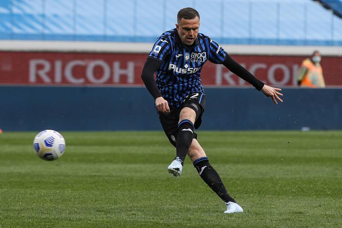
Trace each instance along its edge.
{"label": "white soccer ball with blue and yellow markings in mid-air", "polygon": [[39,158],[45,161],[53,161],[63,155],[65,140],[55,130],[44,130],[34,138],[33,148]]}

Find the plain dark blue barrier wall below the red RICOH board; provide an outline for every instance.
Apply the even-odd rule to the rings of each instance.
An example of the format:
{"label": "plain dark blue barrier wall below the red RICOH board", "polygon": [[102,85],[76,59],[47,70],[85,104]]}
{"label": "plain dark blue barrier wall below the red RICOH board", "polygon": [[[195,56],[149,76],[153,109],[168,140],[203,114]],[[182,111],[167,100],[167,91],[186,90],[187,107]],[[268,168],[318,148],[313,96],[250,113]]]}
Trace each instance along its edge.
{"label": "plain dark blue barrier wall below the red RICOH board", "polygon": [[[255,89],[206,89],[202,130],[342,129],[342,89],[284,89],[274,105]],[[161,130],[145,88],[0,87],[0,128]]]}

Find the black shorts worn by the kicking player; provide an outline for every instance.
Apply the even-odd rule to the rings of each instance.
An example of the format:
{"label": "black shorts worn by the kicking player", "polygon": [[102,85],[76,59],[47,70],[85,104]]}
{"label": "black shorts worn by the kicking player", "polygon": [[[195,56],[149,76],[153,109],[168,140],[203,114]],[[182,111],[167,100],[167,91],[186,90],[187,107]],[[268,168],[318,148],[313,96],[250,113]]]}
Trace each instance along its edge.
{"label": "black shorts worn by the kicking player", "polygon": [[[205,95],[202,93],[192,93],[184,99],[181,107],[170,109],[169,113],[158,112],[161,126],[170,141],[176,147],[178,122],[180,120],[181,110],[189,107],[196,112],[196,121],[194,124],[195,129],[198,129],[202,123],[202,114],[205,106]],[[197,134],[194,133],[194,138]]]}

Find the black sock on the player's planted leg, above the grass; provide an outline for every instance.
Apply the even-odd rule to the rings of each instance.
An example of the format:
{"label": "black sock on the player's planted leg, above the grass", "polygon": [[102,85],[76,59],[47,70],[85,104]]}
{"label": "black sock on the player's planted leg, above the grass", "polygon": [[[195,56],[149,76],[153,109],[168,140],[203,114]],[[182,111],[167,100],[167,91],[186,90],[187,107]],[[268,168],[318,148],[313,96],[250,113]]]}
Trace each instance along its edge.
{"label": "black sock on the player's planted leg, above the grass", "polygon": [[228,194],[220,176],[210,165],[207,157],[202,157],[194,161],[194,167],[205,183],[226,203],[235,200]]}

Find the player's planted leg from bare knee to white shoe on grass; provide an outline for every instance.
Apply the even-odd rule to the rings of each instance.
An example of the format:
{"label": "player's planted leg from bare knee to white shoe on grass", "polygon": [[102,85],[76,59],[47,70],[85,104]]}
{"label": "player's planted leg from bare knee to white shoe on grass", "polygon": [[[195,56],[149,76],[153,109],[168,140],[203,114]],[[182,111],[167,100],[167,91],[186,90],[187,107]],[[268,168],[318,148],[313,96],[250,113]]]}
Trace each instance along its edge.
{"label": "player's planted leg from bare knee to white shoe on grass", "polygon": [[203,181],[226,203],[227,210],[224,213],[243,212],[242,207],[228,194],[220,176],[210,165],[203,148],[195,138],[191,143],[188,155]]}

